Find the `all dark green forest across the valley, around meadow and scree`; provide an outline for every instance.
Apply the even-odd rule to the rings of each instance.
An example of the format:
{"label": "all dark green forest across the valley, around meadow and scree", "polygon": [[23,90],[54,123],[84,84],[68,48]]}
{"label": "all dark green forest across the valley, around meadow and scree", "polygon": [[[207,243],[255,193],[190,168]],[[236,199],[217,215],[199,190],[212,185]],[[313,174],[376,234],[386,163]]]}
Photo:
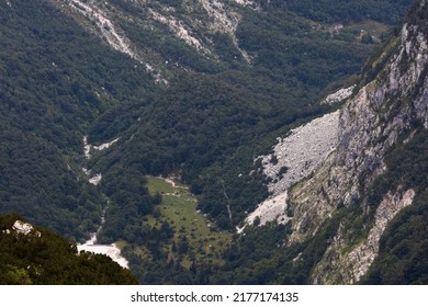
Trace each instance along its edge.
{"label": "all dark green forest across the valley, around meadow and scree", "polygon": [[[132,1],[109,2],[131,15],[140,13]],[[183,10],[181,1],[148,2],[151,9],[167,3]],[[105,212],[99,240],[123,245],[140,283],[309,283],[311,270],[340,218],[354,214],[354,208],[338,211],[323,231],[302,245],[279,248],[288,242],[290,225],[248,227],[246,236],[232,237],[246,214],[269,196],[264,175],[252,172],[260,163],[255,159],[268,152],[278,136],[338,107],[319,101],[357,82],[364,60],[380,52],[413,1],[256,2],[261,11],[239,7],[235,33],[249,62],[224,33],[201,35],[217,55],[211,57],[170,35],[165,25],[142,29],[131,18],[119,21],[147,59],[180,64],[162,68],[164,84],[49,1],[15,0],[11,8],[1,2],[0,214],[18,212],[68,239],[83,240],[98,229]],[[94,145],[119,140],[109,149],[93,150],[87,160],[86,135]],[[397,150],[405,157],[414,146]],[[414,158],[423,161],[425,154],[420,155]],[[101,183],[89,184],[82,168],[101,173]],[[210,219],[210,231],[230,236],[230,245],[215,247],[212,258],[195,257],[196,249],[185,239],[189,229],[167,220],[168,197],[150,193],[147,175],[189,184],[198,209]],[[391,183],[387,178],[378,183],[380,189]],[[424,219],[407,224],[426,215],[424,195],[387,230],[367,283],[426,281],[408,273],[426,263],[420,253],[426,243]],[[11,220],[2,218],[1,230],[9,229]],[[74,247],[43,234],[47,239],[30,248],[46,247],[48,260],[42,258],[56,262],[41,277],[37,270],[24,266],[29,261],[43,265],[37,254],[24,252],[23,261],[10,257],[12,247],[25,240],[0,234],[8,246],[0,249],[7,260],[0,263],[5,272],[1,283],[135,282],[104,257],[70,257]],[[404,242],[408,236],[419,245]],[[52,259],[57,247],[67,245],[57,260]],[[391,263],[397,274],[386,273]],[[88,266],[87,275],[77,266]],[[92,274],[104,266],[117,278]],[[76,275],[53,280],[64,268],[77,270]]]}

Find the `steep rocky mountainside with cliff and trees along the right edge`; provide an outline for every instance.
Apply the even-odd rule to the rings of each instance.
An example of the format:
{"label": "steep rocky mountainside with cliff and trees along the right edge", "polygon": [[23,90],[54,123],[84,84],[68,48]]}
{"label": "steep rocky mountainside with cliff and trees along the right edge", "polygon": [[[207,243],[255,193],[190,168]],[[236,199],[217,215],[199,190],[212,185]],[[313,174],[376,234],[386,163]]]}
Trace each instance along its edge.
{"label": "steep rocky mountainside with cliff and trees along the right edge", "polygon": [[219,276],[237,283],[427,283],[427,3],[418,1],[341,107],[334,150],[289,189],[286,225],[247,227],[226,253],[234,269]]}

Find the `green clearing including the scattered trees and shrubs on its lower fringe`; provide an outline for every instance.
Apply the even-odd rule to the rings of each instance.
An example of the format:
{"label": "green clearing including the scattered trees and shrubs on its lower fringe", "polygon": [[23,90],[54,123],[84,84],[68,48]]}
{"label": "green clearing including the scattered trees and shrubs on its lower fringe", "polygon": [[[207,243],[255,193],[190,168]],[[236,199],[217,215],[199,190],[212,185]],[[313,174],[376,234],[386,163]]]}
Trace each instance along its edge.
{"label": "green clearing including the scattered trees and shrubs on its lower fringe", "polygon": [[176,263],[187,270],[199,263],[224,264],[223,252],[229,247],[232,235],[218,230],[198,211],[198,201],[189,186],[177,180],[147,177],[147,187],[153,196],[161,195],[162,201],[143,218],[143,239],[136,243],[120,242],[125,253],[134,253],[131,268],[136,264],[132,261],[135,257],[143,262]]}

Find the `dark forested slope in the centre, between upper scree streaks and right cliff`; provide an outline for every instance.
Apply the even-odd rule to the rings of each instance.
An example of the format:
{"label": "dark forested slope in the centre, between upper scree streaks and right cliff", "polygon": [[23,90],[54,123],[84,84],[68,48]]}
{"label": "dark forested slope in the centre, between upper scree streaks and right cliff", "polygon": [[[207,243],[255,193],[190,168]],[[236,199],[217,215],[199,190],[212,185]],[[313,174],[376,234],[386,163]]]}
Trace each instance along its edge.
{"label": "dark forested slope in the centre, between upper scree streaks and right cliff", "polygon": [[[394,7],[390,2],[384,4]],[[337,1],[325,5],[331,8]],[[102,141],[117,136],[105,127],[122,126],[124,118],[134,120],[121,134],[116,150],[92,160],[93,169],[105,174],[103,184],[109,186],[111,197],[122,193],[114,191],[115,183],[111,180],[127,182],[123,184],[127,186],[132,185],[131,173],[140,177],[176,174],[201,194],[200,208],[221,228],[234,229],[245,212],[267,196],[263,178],[248,175],[255,157],[269,150],[273,139],[285,134],[295,122],[330,110],[318,104],[325,88],[349,83],[347,78],[360,72],[364,59],[380,46],[381,37],[388,35],[387,31],[372,33],[378,44],[365,44],[358,38],[360,30],[346,29],[347,38],[336,35],[330,22],[301,16],[279,2],[272,1],[263,9],[267,14],[244,10],[236,33],[239,46],[252,58],[250,66],[243,59],[224,57],[213,70],[215,61],[176,42],[174,55],[165,56],[171,61],[188,62],[185,66],[193,71],[174,71],[177,78],[170,80],[167,89],[142,100],[139,105],[113,107],[92,125],[90,140]],[[342,22],[369,19],[343,16]],[[391,15],[375,20],[387,24],[396,22]],[[131,37],[136,35],[131,23],[123,26]],[[138,37],[146,39],[140,44],[158,50],[165,50],[165,45],[170,44],[168,39],[160,39],[158,32]],[[135,37],[137,43],[138,37]],[[236,52],[232,45],[222,46]],[[224,192],[232,204],[232,221],[224,205]],[[112,203],[111,211],[123,209],[122,205],[114,207]],[[113,219],[119,223],[116,216]],[[125,223],[123,218],[122,224]],[[124,229],[110,227],[109,219],[106,227]],[[115,237],[120,238],[121,230],[116,232]]]}

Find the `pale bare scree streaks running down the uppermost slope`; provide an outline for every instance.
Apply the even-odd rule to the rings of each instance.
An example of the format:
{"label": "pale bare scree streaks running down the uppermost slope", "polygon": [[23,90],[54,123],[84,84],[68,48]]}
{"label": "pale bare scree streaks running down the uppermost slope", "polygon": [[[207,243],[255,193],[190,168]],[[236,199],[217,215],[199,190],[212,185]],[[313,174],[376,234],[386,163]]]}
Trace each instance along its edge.
{"label": "pale bare scree streaks running down the uppermost slope", "polygon": [[[239,47],[236,37],[236,30],[241,15],[239,7],[249,8],[259,11],[260,5],[255,1],[234,0],[182,0],[182,8],[187,11],[178,11],[174,7],[167,4],[153,5],[155,1],[126,0],[133,3],[137,10],[132,14],[126,14],[121,10],[120,4],[110,1],[97,0],[50,0],[63,10],[65,5],[70,8],[74,15],[80,15],[78,20],[85,21],[83,26],[99,37],[103,38],[112,48],[128,55],[131,58],[139,61],[146,70],[154,76],[156,83],[168,84],[168,80],[161,73],[158,62],[151,62],[154,58],[147,54],[138,44],[134,44],[120,25],[120,20],[125,19],[145,29],[156,27],[153,21],[159,21],[168,26],[170,32],[179,39],[185,42],[189,46],[196,49],[207,58],[218,60],[218,55],[213,48],[212,34],[219,32],[228,35],[233,44],[241,54],[241,58],[251,64],[251,56]],[[196,14],[193,14],[198,11]],[[202,11],[202,14],[201,14]],[[210,35],[205,35],[210,33]],[[169,62],[165,59],[166,64]],[[179,64],[176,62],[176,66]]]}

